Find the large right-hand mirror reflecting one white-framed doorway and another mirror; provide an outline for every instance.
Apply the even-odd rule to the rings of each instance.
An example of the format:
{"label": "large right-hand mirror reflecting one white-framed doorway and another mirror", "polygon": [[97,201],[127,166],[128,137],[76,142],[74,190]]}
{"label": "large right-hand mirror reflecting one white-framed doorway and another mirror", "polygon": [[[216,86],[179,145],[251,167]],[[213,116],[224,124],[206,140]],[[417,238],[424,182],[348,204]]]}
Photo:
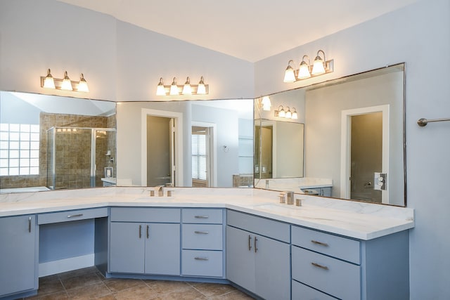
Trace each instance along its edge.
{"label": "large right-hand mirror reflecting one white-framed doorway and another mirror", "polygon": [[[404,63],[400,63],[275,93],[270,95],[270,111],[262,110],[257,99],[258,132],[264,123],[293,122],[275,117],[274,110],[295,107],[295,122],[304,124],[304,148],[289,142],[293,137],[288,131],[285,135],[278,132],[276,139],[283,136],[287,141],[284,147],[292,150],[281,159],[294,162],[303,158],[304,164],[296,176],[271,176],[268,172],[262,176],[260,172],[263,167],[267,169],[268,162],[262,160],[264,148],[257,147],[255,186],[405,206],[404,78]],[[260,136],[258,143],[266,143],[272,152],[280,148],[274,141],[264,141],[274,140],[273,133]],[[274,155],[271,163],[276,159],[280,158]]]}

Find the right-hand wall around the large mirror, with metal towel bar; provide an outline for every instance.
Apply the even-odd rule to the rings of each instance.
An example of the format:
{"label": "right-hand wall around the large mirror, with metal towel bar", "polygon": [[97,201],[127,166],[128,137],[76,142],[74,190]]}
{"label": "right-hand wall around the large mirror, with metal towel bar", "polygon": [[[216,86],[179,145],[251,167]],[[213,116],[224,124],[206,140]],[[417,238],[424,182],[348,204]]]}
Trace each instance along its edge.
{"label": "right-hand wall around the large mirror, with metal towel bar", "polygon": [[[319,48],[328,59],[334,58],[334,73],[307,83],[283,83],[289,59],[314,56]],[[429,0],[255,64],[255,95],[259,96],[406,62],[407,206],[416,209],[416,228],[410,233],[410,289],[411,299],[417,300],[448,299],[450,294],[450,259],[446,259],[450,253],[450,123],[425,128],[416,124],[421,117],[450,117],[449,53],[450,2]],[[433,67],[435,62],[439,67]]]}

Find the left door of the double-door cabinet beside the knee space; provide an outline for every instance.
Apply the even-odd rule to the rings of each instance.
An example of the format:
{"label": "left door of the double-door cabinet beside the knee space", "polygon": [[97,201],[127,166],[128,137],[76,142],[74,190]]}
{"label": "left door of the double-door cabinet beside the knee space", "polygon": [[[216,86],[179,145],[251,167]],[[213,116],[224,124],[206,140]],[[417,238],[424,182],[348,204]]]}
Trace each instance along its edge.
{"label": "left door of the double-door cabinet beside the knee space", "polygon": [[143,223],[110,223],[110,272],[143,273]]}

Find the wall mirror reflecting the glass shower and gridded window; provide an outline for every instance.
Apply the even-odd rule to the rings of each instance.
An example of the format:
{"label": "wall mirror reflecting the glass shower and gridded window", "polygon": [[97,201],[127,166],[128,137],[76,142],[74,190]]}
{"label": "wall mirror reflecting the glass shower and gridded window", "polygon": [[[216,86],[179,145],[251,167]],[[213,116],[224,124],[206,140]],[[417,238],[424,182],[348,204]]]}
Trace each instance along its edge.
{"label": "wall mirror reflecting the glass shower and gridded window", "polygon": [[115,107],[0,91],[0,192],[115,185]]}

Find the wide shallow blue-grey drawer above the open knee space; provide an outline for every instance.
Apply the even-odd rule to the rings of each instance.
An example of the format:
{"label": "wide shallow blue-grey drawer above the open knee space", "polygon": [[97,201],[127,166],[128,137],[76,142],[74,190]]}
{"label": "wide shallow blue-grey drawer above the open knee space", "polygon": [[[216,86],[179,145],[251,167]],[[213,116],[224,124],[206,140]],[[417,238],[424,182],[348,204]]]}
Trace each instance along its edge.
{"label": "wide shallow blue-grey drawer above the open knee space", "polygon": [[58,211],[51,212],[48,214],[38,214],[37,223],[40,224],[50,224],[50,223],[60,223],[68,221],[86,220],[101,218],[103,216],[108,216],[108,208],[101,207],[98,209],[77,209],[71,211]]}

